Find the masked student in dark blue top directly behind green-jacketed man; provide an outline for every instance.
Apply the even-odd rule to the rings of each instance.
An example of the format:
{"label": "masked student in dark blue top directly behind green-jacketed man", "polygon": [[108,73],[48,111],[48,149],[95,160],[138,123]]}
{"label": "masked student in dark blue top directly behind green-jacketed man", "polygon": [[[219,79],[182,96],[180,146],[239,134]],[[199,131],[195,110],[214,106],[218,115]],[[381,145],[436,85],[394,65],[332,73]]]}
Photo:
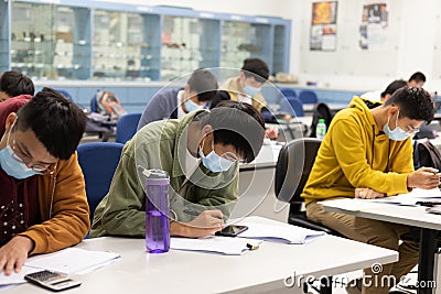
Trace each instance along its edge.
{"label": "masked student in dark blue top directly behind green-jacketed man", "polygon": [[194,70],[183,89],[162,88],[151,98],[139,120],[138,130],[152,121],[180,119],[189,112],[209,107],[217,87],[217,79],[209,70]]}

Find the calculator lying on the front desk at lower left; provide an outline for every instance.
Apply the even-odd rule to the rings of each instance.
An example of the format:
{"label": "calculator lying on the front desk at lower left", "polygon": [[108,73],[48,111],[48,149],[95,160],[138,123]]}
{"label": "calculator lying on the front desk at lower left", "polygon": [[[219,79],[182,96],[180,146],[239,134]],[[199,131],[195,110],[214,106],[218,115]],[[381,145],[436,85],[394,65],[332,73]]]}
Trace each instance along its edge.
{"label": "calculator lying on the front desk at lower left", "polygon": [[52,272],[52,271],[41,271],[35,273],[30,273],[24,276],[24,279],[39,286],[58,292],[71,287],[79,286],[82,283],[69,279],[63,273]]}

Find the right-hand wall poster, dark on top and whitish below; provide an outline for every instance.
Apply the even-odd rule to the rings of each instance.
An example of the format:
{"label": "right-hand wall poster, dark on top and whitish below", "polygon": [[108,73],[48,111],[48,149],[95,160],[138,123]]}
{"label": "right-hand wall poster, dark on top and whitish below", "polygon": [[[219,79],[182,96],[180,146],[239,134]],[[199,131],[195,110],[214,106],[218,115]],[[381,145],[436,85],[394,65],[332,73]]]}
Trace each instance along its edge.
{"label": "right-hand wall poster, dark on top and whitish below", "polygon": [[387,50],[388,14],[387,4],[385,2],[363,6],[358,42],[361,50]]}

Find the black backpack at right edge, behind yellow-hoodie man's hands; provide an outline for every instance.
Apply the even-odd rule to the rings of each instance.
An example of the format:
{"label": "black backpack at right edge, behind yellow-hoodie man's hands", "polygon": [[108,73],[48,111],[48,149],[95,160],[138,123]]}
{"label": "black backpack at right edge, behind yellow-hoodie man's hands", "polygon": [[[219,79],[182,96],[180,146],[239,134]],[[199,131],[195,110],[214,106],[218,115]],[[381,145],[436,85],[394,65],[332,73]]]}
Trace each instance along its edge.
{"label": "black backpack at right edge, behind yellow-hoodie man's hands", "polygon": [[441,153],[429,140],[415,140],[413,166],[415,170],[426,166],[441,171]]}

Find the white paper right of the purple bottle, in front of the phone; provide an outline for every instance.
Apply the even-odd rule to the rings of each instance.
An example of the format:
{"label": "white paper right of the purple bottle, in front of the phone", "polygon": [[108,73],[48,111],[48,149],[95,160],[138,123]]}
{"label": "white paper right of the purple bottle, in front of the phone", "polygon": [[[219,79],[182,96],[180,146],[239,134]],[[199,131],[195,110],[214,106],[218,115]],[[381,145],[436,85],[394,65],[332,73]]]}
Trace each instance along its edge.
{"label": "white paper right of the purple bottle, in front of the phone", "polygon": [[171,238],[170,248],[175,250],[202,251],[227,255],[240,255],[248,251],[248,243],[258,244],[261,240],[247,240],[232,237],[208,237],[201,239]]}

